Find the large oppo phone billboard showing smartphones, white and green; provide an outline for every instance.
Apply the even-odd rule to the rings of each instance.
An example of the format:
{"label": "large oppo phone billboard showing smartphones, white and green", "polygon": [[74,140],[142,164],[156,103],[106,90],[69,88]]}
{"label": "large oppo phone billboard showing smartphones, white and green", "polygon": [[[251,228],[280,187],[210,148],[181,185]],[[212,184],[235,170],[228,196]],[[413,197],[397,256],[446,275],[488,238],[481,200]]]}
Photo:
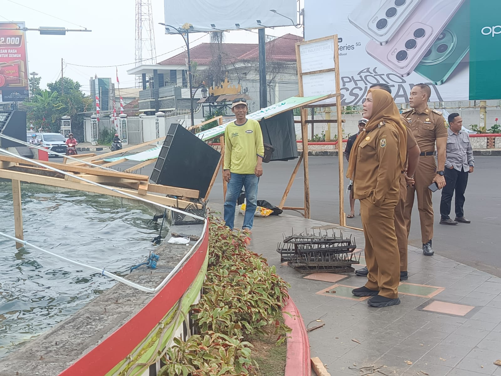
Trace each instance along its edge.
{"label": "large oppo phone billboard showing smartphones, white and green", "polygon": [[500,0],[309,0],[305,38],[337,34],[342,105],[386,83],[406,103],[417,83],[431,101],[501,98]]}

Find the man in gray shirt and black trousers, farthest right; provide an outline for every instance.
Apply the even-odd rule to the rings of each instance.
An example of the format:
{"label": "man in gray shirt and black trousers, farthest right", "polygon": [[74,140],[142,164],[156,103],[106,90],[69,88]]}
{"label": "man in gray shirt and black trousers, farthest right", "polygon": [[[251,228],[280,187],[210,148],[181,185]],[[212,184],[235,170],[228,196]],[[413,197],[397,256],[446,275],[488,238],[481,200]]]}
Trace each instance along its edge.
{"label": "man in gray shirt and black trousers, farthest right", "polygon": [[[449,129],[447,130],[447,148],[445,158],[445,183],[440,201],[440,225],[457,225],[458,222],[470,223],[464,218],[464,191],[468,183],[468,174],[473,172],[475,161],[469,136],[462,131],[463,119],[459,114],[449,115]],[[451,220],[450,205],[452,195],[456,193],[456,219]]]}

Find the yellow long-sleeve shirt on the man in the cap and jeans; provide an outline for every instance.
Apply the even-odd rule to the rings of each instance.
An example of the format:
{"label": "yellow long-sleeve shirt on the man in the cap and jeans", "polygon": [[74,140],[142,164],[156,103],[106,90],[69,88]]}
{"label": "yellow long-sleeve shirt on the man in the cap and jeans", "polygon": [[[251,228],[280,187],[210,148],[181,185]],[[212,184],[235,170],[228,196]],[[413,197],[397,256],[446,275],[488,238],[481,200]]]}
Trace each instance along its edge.
{"label": "yellow long-sleeve shirt on the man in the cap and jeans", "polygon": [[233,173],[254,173],[258,155],[265,155],[259,122],[247,119],[242,125],[228,123],[224,131],[224,169]]}

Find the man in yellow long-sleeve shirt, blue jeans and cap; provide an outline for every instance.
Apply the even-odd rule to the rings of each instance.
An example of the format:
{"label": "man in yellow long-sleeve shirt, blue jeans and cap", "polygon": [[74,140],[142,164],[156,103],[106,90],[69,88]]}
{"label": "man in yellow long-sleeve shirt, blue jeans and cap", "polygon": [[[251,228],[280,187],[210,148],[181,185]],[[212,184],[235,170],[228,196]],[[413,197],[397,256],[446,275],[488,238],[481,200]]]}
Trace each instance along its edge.
{"label": "man in yellow long-sleeve shirt, blue jeans and cap", "polygon": [[223,179],[228,182],[224,202],[224,222],[233,229],[235,206],[242,187],[245,188],[245,215],[242,230],[250,233],[258,201],[259,177],[263,174],[263,133],[259,122],[247,119],[247,101],[236,98],[231,111],[236,120],[228,123],[224,131]]}

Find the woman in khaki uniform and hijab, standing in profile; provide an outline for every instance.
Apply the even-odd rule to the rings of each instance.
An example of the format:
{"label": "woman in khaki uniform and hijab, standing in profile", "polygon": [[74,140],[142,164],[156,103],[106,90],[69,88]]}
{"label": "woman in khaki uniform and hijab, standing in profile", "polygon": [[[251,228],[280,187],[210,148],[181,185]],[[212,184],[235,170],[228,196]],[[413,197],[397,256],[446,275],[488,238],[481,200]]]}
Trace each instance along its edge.
{"label": "woman in khaki uniform and hijab, standing in profile", "polygon": [[372,296],[374,307],[400,304],[400,256],[395,236],[394,213],[400,197],[400,174],[407,153],[407,130],[391,95],[371,89],[363,117],[369,119],[353,145],[347,177],[352,195],[360,200],[365,236],[365,261],[369,274],[355,296]]}

